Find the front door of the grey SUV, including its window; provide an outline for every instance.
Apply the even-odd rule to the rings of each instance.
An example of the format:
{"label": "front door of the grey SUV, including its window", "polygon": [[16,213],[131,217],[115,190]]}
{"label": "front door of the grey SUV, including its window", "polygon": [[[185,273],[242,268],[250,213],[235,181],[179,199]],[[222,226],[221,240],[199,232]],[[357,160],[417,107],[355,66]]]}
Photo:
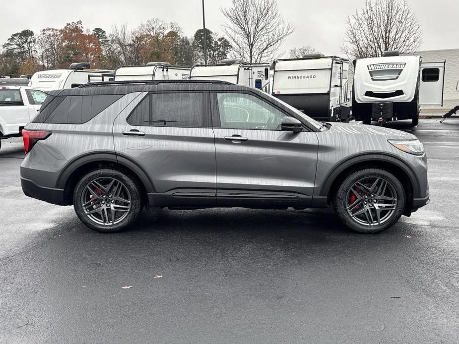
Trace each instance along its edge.
{"label": "front door of the grey SUV, including its window", "polygon": [[315,132],[281,130],[289,114],[251,92],[214,93],[217,205],[307,207],[316,177]]}

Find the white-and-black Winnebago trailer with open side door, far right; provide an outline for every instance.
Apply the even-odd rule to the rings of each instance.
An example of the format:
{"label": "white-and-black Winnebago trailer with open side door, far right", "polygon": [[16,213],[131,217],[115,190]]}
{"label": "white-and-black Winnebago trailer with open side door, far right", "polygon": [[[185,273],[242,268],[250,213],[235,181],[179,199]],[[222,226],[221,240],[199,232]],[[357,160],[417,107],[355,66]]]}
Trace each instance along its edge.
{"label": "white-and-black Winnebago trailer with open side door, far right", "polygon": [[385,52],[383,57],[355,60],[352,115],[364,124],[397,119],[419,122],[421,105],[443,107],[445,61]]}

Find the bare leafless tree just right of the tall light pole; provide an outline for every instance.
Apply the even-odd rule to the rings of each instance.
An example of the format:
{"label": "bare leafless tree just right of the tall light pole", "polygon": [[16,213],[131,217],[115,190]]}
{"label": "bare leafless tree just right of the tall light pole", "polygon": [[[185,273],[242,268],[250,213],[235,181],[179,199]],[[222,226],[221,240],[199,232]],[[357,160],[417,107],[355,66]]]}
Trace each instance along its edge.
{"label": "bare leafless tree just right of the tall light pole", "polygon": [[272,60],[295,30],[282,19],[275,0],[232,0],[232,6],[221,11],[228,20],[222,30],[231,43],[233,56],[248,62]]}

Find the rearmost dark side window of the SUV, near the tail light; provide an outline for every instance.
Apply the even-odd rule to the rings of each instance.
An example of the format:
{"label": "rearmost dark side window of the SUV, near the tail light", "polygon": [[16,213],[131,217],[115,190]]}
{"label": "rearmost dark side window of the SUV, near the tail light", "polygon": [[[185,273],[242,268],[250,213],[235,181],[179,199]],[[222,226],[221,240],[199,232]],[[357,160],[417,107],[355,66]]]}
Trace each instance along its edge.
{"label": "rearmost dark side window of the SUV, near the tail light", "polygon": [[81,124],[112,105],[123,95],[58,96],[40,110],[35,123]]}

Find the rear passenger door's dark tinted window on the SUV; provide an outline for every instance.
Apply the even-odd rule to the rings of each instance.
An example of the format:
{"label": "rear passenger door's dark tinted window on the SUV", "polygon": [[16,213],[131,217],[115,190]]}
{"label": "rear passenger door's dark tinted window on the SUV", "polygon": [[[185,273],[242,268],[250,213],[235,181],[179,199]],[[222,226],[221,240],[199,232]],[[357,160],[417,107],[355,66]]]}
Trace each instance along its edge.
{"label": "rear passenger door's dark tinted window on the SUV", "polygon": [[128,118],[131,125],[204,127],[202,93],[151,93]]}

